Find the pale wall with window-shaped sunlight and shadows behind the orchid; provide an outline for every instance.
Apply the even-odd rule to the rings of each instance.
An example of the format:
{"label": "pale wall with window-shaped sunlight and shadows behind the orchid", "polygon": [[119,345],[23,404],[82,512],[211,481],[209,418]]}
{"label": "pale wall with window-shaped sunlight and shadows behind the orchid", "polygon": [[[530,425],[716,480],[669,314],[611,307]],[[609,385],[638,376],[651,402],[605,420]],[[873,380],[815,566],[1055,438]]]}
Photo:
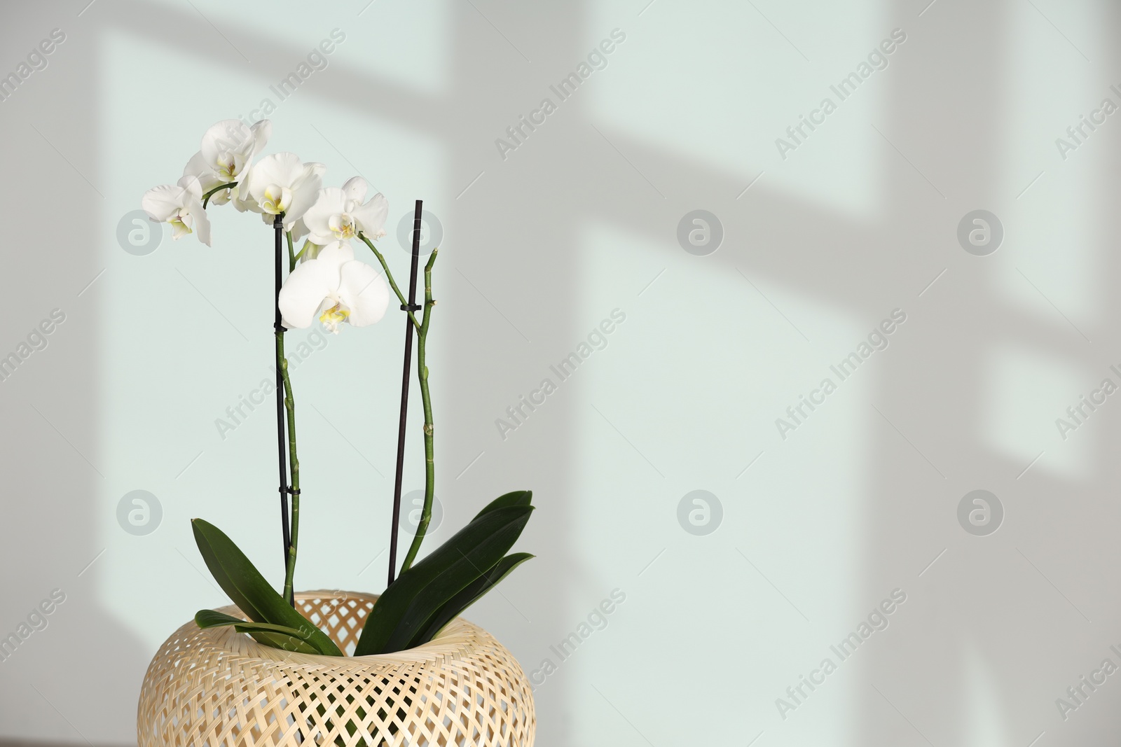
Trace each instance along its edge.
{"label": "pale wall with window-shaped sunlight and shadows behind the orchid", "polygon": [[[469,617],[538,683],[539,745],[1115,734],[1121,675],[1081,703],[1066,690],[1121,665],[1121,404],[1056,424],[1121,384],[1121,124],[1065,133],[1121,105],[1110,3],[86,1],[0,24],[0,73],[65,34],[0,102],[0,355],[65,314],[0,382],[0,636],[65,595],[0,661],[0,736],[135,739],[151,655],[224,603],[191,517],[280,580],[271,411],[215,426],[269,375],[271,234],[226,207],[212,249],[166,226],[146,255],[118,241],[207,125],[265,99],[270,151],[326,164],[327,184],[362,174],[393,228],[416,198],[443,225],[436,539],[535,489],[519,548],[538,558]],[[280,101],[270,85],[333,29],[327,67]],[[560,101],[549,86],[614,29]],[[896,29],[842,101],[831,85]],[[545,97],[556,111],[497,147]],[[714,253],[678,242],[695,209],[720,221]],[[988,255],[957,239],[978,209],[1003,230]],[[549,365],[615,309],[606,347],[556,382]],[[887,348],[842,381],[831,365],[897,309]],[[302,588],[383,583],[401,326],[348,328],[294,370]],[[545,377],[557,391],[503,438],[495,420]],[[780,429],[826,377],[835,391]],[[136,489],[163,511],[147,535],[117,519]],[[678,521],[698,489],[722,513],[704,535]],[[995,533],[958,521],[975,489],[1002,506]],[[606,627],[562,661],[550,645],[615,589]],[[841,661],[831,645],[893,591],[887,628]],[[787,694],[826,657],[824,683]]]}

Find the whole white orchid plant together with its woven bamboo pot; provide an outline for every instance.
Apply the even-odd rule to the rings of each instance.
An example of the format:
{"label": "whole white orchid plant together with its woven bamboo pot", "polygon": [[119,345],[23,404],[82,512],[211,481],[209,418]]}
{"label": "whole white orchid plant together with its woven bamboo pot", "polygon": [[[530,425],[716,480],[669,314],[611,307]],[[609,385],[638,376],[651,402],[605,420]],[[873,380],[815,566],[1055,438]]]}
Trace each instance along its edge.
{"label": "whole white orchid plant together with its woven bamboo pot", "polygon": [[[221,735],[230,734],[240,735],[239,745],[295,746],[309,738],[314,744],[336,745],[453,744],[446,738],[461,729],[471,744],[529,745],[532,697],[525,674],[509,652],[460,615],[532,557],[509,552],[534,510],[531,493],[499,496],[418,559],[435,491],[426,348],[436,306],[432,271],[438,254],[433,250],[424,267],[424,298],[417,304],[420,203],[406,298],[376,244],[386,235],[386,198],[380,193],[369,196],[362,177],[342,187],[324,187],[326,168],[304,162],[295,153],[261,157],[270,132],[267,120],[252,125],[239,120],[214,124],[178,183],[148,190],[141,203],[152,221],[172,225],[175,239],[193,233],[207,246],[212,245],[207,209],[214,205],[231,204],[238,212],[256,213],[274,232],[284,586],[274,588],[217,526],[202,519],[192,521],[198,551],[234,606],[200,610],[157,654],[141,694],[140,744],[188,744],[204,736],[203,741],[217,745],[225,744]],[[369,250],[377,267],[355,256],[355,243]],[[305,488],[299,477],[296,396],[285,357],[285,333],[315,324],[334,334],[346,326],[372,325],[385,317],[390,293],[400,302],[407,334],[389,583],[379,596],[297,594]],[[424,410],[425,495],[416,533],[398,568],[397,519],[414,335]],[[216,663],[214,651],[223,654]],[[502,687],[476,692],[479,702],[472,698],[471,703],[456,706],[464,688],[478,691],[480,674]],[[324,688],[324,681],[333,684]],[[288,688],[282,704],[269,698],[258,702],[256,695],[247,699],[247,692],[274,692],[278,682]],[[202,709],[200,692],[206,703]],[[506,713],[499,718],[506,721],[498,732],[493,723],[481,726],[487,719],[494,721],[494,708]],[[456,709],[462,723],[450,727],[444,717]],[[464,720],[471,712],[478,718]],[[266,728],[266,723],[274,727]],[[485,736],[488,730],[493,741]],[[460,744],[457,737],[455,744]]]}

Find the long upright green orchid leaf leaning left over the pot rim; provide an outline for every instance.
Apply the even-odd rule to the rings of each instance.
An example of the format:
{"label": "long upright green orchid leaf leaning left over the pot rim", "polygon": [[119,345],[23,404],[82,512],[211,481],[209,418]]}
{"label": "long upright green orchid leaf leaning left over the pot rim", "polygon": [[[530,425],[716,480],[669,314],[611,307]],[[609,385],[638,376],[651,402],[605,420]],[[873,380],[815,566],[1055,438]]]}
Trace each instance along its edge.
{"label": "long upright green orchid leaf leaning left over the pot rim", "polygon": [[[302,638],[316,650],[314,653],[328,656],[343,655],[326,633],[293,609],[284,597],[269,586],[245,553],[222,530],[202,519],[192,520],[191,526],[194,530],[198,552],[202,553],[214,580],[247,617],[254,623],[268,623],[300,632],[304,634]],[[204,620],[206,619],[214,618],[204,617]]]}

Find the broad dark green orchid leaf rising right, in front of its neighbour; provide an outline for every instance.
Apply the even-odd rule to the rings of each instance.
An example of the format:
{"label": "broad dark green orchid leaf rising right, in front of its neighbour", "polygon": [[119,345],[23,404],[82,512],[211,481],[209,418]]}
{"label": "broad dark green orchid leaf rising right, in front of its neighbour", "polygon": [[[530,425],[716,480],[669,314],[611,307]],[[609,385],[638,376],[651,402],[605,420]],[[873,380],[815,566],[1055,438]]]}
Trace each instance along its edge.
{"label": "broad dark green orchid leaf rising right, in front of its neighbour", "polygon": [[484,511],[401,573],[370,611],[354,655],[407,647],[441,607],[502,559],[532,511],[524,504]]}

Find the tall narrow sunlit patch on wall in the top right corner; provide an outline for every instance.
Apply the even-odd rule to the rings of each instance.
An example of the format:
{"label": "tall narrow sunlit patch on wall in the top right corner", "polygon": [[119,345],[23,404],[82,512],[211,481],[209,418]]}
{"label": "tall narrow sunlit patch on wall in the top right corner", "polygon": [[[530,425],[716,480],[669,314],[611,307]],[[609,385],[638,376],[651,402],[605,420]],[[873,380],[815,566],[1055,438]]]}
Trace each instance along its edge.
{"label": "tall narrow sunlit patch on wall in the top right corner", "polygon": [[[1053,3],[1047,10],[1069,20],[1067,11],[1075,8]],[[1008,213],[1000,216],[1004,245],[993,256],[1003,270],[998,289],[1032,324],[1093,339],[1110,292],[1099,283],[1102,246],[1112,241],[1093,216],[1109,207],[1099,195],[1105,187],[1102,165],[1112,160],[1121,134],[1121,94],[1109,78],[1090,82],[1086,60],[1040,9],[1012,3],[1004,12],[1007,68],[1015,75],[1004,78],[1009,114],[1000,181]],[[1103,105],[1106,100],[1111,104]],[[1111,108],[1117,111],[1106,114]]]}

